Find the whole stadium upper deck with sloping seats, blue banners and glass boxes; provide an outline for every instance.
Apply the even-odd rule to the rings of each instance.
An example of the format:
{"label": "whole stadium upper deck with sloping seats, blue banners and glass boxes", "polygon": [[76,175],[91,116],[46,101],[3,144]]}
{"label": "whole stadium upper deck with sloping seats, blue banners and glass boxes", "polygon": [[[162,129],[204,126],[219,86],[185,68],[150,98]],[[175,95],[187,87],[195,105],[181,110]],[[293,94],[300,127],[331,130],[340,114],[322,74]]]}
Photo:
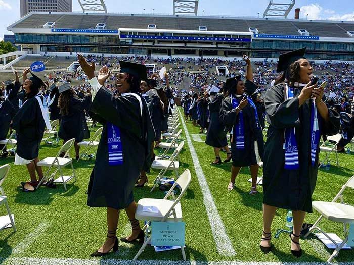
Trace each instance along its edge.
{"label": "whole stadium upper deck with sloping seats, blue banners and glass boxes", "polygon": [[[55,24],[44,28],[47,22]],[[99,23],[104,28],[97,29]],[[22,50],[34,53],[276,58],[306,46],[309,59],[354,60],[354,37],[348,34],[354,35],[354,22],[348,21],[34,12],[8,30]]]}

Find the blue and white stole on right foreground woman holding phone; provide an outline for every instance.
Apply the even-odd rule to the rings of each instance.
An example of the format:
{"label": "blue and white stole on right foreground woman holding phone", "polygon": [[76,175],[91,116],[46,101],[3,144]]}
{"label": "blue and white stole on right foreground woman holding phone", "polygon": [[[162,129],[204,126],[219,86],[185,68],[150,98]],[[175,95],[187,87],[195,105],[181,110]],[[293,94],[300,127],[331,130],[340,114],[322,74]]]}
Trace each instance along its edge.
{"label": "blue and white stole on right foreground woman holding phone", "polygon": [[[285,83],[285,100],[294,98],[294,88]],[[315,166],[317,146],[320,142],[320,129],[315,99],[311,103],[311,164]],[[295,128],[286,128],[284,132],[285,166],[284,169],[297,170],[299,153],[295,135]]]}

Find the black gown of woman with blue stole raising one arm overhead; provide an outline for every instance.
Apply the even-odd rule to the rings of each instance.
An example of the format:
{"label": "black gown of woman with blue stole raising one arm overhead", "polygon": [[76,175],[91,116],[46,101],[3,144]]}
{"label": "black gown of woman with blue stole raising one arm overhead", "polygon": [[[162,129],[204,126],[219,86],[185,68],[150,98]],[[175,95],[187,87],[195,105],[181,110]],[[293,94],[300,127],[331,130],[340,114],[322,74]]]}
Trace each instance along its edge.
{"label": "black gown of woman with blue stole raising one arm overhead", "polygon": [[[241,100],[237,98],[237,100]],[[244,123],[244,136],[245,136],[245,148],[237,149],[236,140],[231,139],[231,157],[232,165],[234,167],[245,167],[257,164],[257,157],[255,153],[255,142],[257,141],[258,153],[260,159],[263,160],[263,134],[262,129],[257,128],[255,119],[255,110],[248,103],[243,109],[243,123]],[[238,123],[238,115],[236,109],[233,109],[230,96],[224,98],[222,107],[220,109],[220,119],[224,122],[228,128],[234,128]],[[258,121],[259,123],[259,121]]]}

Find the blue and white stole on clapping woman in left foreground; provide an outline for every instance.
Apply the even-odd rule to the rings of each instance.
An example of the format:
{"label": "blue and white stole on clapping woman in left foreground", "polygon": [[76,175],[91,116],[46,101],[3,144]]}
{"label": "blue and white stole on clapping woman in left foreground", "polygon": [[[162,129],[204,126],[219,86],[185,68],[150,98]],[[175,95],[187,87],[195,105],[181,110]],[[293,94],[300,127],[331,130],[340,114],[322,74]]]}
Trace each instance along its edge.
{"label": "blue and white stole on clapping woman in left foreground", "polygon": [[[140,115],[143,113],[143,103],[139,95],[124,93],[122,96],[133,95],[140,103]],[[111,122],[107,122],[108,164],[110,166],[123,165],[123,145],[120,138],[120,129]]]}

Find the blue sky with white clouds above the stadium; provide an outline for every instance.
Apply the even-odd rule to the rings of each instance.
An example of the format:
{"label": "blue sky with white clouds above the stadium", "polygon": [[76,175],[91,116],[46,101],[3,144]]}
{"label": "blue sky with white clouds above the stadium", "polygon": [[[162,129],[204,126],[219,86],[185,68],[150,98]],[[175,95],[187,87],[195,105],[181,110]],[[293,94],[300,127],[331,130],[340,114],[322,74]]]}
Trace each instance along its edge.
{"label": "blue sky with white clouds above the stadium", "polygon": [[[354,21],[354,0],[295,0],[288,18],[294,18],[294,9],[300,8],[300,18]],[[82,12],[77,0],[72,0],[73,12]],[[277,0],[276,2],[291,2]],[[105,0],[108,13],[173,14],[172,0]],[[199,0],[198,15],[225,15],[261,17],[268,0]],[[20,18],[20,0],[0,0],[0,39],[12,34],[6,27]]]}

